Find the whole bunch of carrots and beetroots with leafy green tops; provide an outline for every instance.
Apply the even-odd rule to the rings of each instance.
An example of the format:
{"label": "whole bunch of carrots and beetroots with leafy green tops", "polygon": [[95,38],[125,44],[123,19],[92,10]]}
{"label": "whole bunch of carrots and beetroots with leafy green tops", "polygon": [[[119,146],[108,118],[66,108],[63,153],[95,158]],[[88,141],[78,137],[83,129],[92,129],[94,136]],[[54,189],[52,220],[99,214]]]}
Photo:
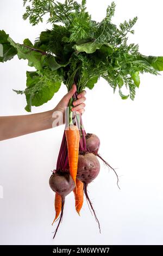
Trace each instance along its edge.
{"label": "whole bunch of carrots and beetroots with leafy green tops", "polygon": [[[27,59],[28,65],[36,69],[27,71],[26,89],[15,90],[17,94],[26,96],[26,111],[30,112],[32,106],[40,106],[51,100],[61,82],[67,90],[73,84],[77,86],[77,93],[69,102],[70,111],[67,113],[57,167],[49,179],[49,185],[55,192],[53,223],[60,216],[60,224],[65,197],[72,191],[78,214],[85,193],[98,222],[87,194],[87,185],[99,173],[97,157],[102,159],[98,154],[100,142],[96,135],[85,132],[82,116],[71,111],[72,102],[83,89],[93,89],[99,77],[108,81],[114,93],[118,90],[123,100],[128,97],[134,100],[136,88],[140,86],[139,74],[148,72],[158,75],[163,70],[163,57],[143,56],[138,45],[127,44],[128,33],[134,34],[133,26],[137,17],[124,21],[119,27],[112,24],[114,2],[107,8],[101,22],[91,20],[91,15],[86,11],[86,0],[82,0],[81,4],[74,0],[64,3],[55,0],[23,2],[26,5],[24,20],[29,18],[34,26],[42,22],[43,15],[48,14],[48,22],[52,23],[52,28],[41,32],[34,44],[29,39],[18,44],[4,31],[0,31],[0,44],[3,46],[0,62],[6,62],[17,54],[19,59]],[[129,91],[127,95],[123,93],[124,87]]]}

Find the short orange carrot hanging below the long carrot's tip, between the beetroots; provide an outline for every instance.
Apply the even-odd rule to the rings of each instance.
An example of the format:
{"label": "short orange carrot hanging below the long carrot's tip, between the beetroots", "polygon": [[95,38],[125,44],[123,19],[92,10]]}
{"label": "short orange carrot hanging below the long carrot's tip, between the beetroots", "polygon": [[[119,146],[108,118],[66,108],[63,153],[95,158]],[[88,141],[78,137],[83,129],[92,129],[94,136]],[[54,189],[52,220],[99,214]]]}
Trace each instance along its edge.
{"label": "short orange carrot hanging below the long carrot's tip, between the beetroots", "polygon": [[83,182],[80,180],[76,180],[76,188],[74,188],[73,193],[76,200],[76,211],[78,212],[78,215],[80,216],[80,210],[82,209],[83,200],[84,200],[84,194],[83,194]]}

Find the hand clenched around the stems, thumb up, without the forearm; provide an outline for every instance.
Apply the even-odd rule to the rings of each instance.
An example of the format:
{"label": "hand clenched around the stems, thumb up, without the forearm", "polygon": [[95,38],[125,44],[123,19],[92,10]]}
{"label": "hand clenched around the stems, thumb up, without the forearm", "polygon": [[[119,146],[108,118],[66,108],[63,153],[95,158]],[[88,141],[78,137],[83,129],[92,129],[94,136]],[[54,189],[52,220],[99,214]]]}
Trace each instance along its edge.
{"label": "hand clenched around the stems, thumb up, without the forearm", "polygon": [[[61,101],[58,103],[58,105],[54,108],[54,111],[60,111],[64,115],[65,113],[65,108],[68,106],[68,102],[73,96],[73,94],[76,92],[77,87],[74,84],[70,92],[68,92],[64,97],[62,97]],[[77,100],[73,102],[73,108],[72,111],[76,111],[77,114],[83,114],[85,109],[85,103],[84,101],[86,100],[85,98],[85,90],[83,90],[82,93],[78,94]]]}

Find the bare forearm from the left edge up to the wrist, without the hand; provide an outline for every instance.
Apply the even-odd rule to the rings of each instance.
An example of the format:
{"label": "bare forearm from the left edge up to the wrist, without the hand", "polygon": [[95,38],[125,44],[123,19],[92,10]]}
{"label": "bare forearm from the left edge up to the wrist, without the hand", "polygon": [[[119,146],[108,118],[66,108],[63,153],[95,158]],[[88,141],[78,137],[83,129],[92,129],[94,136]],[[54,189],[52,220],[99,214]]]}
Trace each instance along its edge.
{"label": "bare forearm from the left edge up to the wrist, without the hand", "polygon": [[53,111],[0,117],[0,141],[52,128]]}

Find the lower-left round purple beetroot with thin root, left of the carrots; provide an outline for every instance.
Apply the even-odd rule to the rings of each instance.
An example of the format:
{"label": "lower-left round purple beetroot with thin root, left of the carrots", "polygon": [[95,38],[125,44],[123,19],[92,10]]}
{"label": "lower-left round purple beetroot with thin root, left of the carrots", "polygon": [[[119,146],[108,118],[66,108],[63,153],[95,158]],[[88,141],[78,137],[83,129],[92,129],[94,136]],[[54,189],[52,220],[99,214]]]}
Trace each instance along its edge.
{"label": "lower-left round purple beetroot with thin root, left of the carrots", "polygon": [[67,196],[75,188],[71,175],[67,172],[53,173],[49,179],[49,185],[54,192],[60,194],[62,198]]}

